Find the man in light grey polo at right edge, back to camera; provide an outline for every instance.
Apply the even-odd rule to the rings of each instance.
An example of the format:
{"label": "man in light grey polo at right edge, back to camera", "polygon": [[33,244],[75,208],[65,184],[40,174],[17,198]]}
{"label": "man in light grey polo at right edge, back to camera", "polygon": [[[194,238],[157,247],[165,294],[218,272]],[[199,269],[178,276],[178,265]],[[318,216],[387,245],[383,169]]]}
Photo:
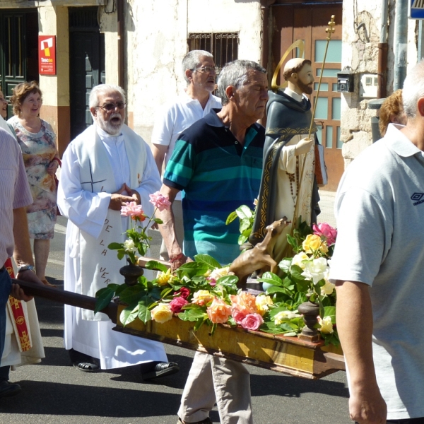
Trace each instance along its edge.
{"label": "man in light grey polo at right edge, back to camera", "polygon": [[424,422],[424,62],[403,97],[406,126],[349,165],[336,197],[330,278],[360,424]]}

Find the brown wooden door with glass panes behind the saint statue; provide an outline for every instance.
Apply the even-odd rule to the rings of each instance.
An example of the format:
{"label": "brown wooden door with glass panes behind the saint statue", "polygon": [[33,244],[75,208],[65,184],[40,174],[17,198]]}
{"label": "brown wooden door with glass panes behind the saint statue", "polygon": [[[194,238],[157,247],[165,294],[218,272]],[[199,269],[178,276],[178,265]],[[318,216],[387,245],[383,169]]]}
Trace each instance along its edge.
{"label": "brown wooden door with glass panes behind the saint statue", "polygon": [[[305,42],[306,59],[311,59],[315,78],[315,90],[318,88],[319,75],[322,69],[322,60],[326,44],[325,29],[331,15],[335,15],[335,32],[331,36],[326,64],[322,77],[321,91],[316,99],[316,91],[311,95],[312,107],[317,101],[315,123],[318,127],[319,142],[325,146],[325,161],[329,174],[329,184],[324,189],[336,191],[338,182],[344,170],[343,156],[341,155],[340,141],[340,110],[341,96],[337,93],[336,73],[341,70],[341,4],[278,4],[272,8],[274,33],[272,39],[273,69],[284,52],[295,40]],[[293,51],[286,60],[298,57]],[[281,66],[281,69],[284,68]],[[282,71],[280,72],[283,82]],[[277,81],[278,82],[278,81]],[[278,82],[280,83],[280,82]]]}

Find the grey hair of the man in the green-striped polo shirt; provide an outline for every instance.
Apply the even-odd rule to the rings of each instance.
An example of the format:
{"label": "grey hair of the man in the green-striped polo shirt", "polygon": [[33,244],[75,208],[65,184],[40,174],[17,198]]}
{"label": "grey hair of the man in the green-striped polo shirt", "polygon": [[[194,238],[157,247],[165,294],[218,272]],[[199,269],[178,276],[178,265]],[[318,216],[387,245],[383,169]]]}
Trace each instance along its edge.
{"label": "grey hair of the man in the green-striped polo shirt", "polygon": [[251,69],[266,73],[264,67],[251,60],[235,60],[225,64],[218,77],[218,96],[221,98],[223,106],[230,101],[225,93],[227,87],[233,86],[237,90],[244,86],[247,81],[247,73]]}

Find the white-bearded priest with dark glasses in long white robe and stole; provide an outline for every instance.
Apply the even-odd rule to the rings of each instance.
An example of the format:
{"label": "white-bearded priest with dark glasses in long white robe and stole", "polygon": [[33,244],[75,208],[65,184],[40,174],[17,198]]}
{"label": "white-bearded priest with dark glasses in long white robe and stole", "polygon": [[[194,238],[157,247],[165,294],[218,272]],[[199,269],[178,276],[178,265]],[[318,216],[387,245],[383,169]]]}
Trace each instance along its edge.
{"label": "white-bearded priest with dark glasses in long white robe and stole", "polygon": [[[160,188],[158,169],[147,144],[124,124],[125,94],[102,84],[90,93],[94,124],[71,141],[62,159],[58,206],[68,218],[65,290],[95,296],[108,283],[122,280],[124,260],[107,249],[124,242],[129,218],[120,215],[127,202],[153,213],[149,194]],[[65,307],[65,348],[81,371],[141,364],[143,379],[179,370],[167,363],[161,343],[112,331],[105,314]]]}

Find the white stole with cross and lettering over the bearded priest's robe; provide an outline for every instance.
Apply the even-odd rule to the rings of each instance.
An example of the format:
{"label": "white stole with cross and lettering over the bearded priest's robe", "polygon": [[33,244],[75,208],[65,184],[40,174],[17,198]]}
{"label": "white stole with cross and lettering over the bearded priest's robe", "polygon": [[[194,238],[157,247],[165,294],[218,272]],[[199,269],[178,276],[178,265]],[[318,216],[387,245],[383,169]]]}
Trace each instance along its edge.
{"label": "white stole with cross and lettering over the bearded priest's robe", "polygon": [[[143,171],[146,167],[146,145],[141,137],[134,136],[128,127],[122,127],[126,155],[129,161],[130,181],[129,187],[136,188],[141,184]],[[90,126],[78,137],[76,154],[81,166],[81,187],[89,192],[114,193],[121,187],[117,187],[114,181],[112,165],[107,157],[106,148],[95,131],[95,126]],[[128,220],[129,223],[129,220]],[[129,225],[129,224],[128,224]],[[128,227],[127,227],[128,228]],[[107,284],[124,282],[124,277],[119,269],[126,265],[126,258],[119,261],[117,251],[107,248],[112,242],[124,242],[122,217],[119,211],[107,210],[105,225],[98,239],[87,232],[78,230],[78,249],[73,249],[71,256],[78,254],[81,261],[80,282],[76,286],[81,288],[81,294],[95,297],[95,293]],[[79,251],[78,253],[75,250]],[[79,283],[79,284],[78,284]],[[82,310],[83,319],[89,321],[107,321],[105,314],[95,314],[93,311]]]}

